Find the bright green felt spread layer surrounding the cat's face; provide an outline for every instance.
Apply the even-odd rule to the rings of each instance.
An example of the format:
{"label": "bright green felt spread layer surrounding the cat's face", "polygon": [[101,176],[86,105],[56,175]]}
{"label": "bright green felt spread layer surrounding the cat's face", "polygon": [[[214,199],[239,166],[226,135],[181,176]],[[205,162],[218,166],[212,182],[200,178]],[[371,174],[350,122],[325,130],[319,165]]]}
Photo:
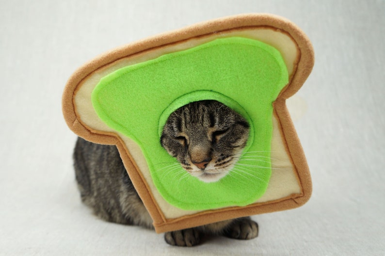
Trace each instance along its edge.
{"label": "bright green felt spread layer surrounding the cat's face", "polygon": [[[245,206],[262,196],[271,165],[273,101],[288,83],[280,53],[257,40],[216,39],[191,49],[121,68],[92,93],[97,115],[141,147],[161,196],[183,210]],[[252,125],[245,154],[229,175],[205,183],[186,175],[160,146],[160,133],[176,108],[217,100]]]}

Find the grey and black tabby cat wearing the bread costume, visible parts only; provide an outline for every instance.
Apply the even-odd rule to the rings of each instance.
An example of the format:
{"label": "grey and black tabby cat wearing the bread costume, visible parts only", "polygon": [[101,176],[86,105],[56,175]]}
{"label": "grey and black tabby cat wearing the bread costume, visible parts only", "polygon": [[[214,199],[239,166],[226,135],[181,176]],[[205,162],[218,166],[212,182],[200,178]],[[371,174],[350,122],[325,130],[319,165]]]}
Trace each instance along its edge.
{"label": "grey and black tabby cat wearing the bread costume, visible parts only", "polygon": [[[218,181],[234,166],[246,145],[248,122],[217,101],[193,102],[168,118],[160,143],[192,176]],[[81,200],[104,220],[153,228],[152,219],[135,191],[115,146],[98,145],[79,138],[74,166]],[[257,223],[249,217],[166,232],[167,243],[193,246],[203,234],[252,239]]]}

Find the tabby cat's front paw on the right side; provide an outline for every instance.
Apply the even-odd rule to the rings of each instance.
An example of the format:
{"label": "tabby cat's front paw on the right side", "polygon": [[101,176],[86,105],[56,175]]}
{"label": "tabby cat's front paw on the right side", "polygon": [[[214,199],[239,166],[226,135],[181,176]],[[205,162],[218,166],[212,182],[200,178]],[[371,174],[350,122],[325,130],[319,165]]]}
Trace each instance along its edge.
{"label": "tabby cat's front paw on the right side", "polygon": [[241,240],[253,239],[258,236],[258,224],[249,218],[236,219],[226,228],[224,235]]}

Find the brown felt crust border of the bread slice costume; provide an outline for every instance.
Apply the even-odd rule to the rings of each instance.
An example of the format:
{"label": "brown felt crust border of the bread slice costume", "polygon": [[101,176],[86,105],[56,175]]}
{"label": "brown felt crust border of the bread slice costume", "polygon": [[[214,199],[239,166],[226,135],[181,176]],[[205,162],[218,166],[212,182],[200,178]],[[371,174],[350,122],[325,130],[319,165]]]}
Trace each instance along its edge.
{"label": "brown felt crust border of the bread slice costume", "polygon": [[[298,60],[290,76],[289,84],[280,92],[273,106],[274,116],[280,124],[281,136],[284,143],[286,142],[286,149],[291,158],[294,172],[297,173],[302,193],[280,198],[275,201],[255,203],[246,207],[228,207],[198,212],[176,219],[166,219],[154,200],[149,186],[136,166],[135,161],[128,153],[123,140],[114,133],[93,130],[82,123],[78,117],[74,104],[74,96],[78,90],[78,86],[95,70],[128,56],[145,53],[150,50],[153,51],[166,45],[178,44],[192,38],[209,36],[210,34],[213,35],[221,31],[258,29],[261,27],[268,27],[287,33],[298,46]],[[241,216],[292,209],[305,204],[311,195],[312,184],[305,154],[286,107],[286,99],[301,88],[310,74],[313,65],[314,53],[310,41],[298,27],[285,18],[269,14],[246,14],[215,19],[118,47],[83,65],[69,78],[65,86],[63,94],[64,119],[68,127],[78,136],[95,143],[117,146],[124,165],[128,170],[130,179],[141,196],[145,207],[150,212],[158,233],[200,226]]]}

